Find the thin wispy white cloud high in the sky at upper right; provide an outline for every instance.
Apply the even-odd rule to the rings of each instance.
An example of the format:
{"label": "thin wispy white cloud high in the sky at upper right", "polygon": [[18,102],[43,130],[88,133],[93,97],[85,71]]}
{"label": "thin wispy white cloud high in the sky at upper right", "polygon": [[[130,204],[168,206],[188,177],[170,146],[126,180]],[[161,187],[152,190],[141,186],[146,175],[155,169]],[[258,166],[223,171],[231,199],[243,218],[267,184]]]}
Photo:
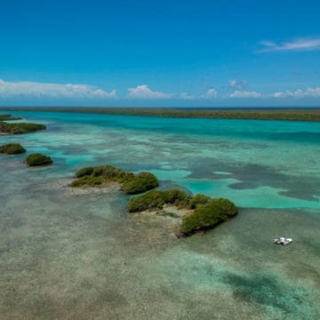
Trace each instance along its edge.
{"label": "thin wispy white cloud high in the sky at upper right", "polygon": [[292,42],[276,44],[273,41],[261,41],[261,52],[320,50],[320,38],[300,38]]}

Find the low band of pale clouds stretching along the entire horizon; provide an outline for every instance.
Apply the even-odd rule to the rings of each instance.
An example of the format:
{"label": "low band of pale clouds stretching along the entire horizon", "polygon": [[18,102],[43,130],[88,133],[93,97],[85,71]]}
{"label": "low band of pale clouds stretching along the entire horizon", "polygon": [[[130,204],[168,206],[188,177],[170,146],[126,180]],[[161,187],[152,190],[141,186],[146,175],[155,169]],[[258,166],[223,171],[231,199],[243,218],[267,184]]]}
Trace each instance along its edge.
{"label": "low band of pale clouds stretching along the entire horizon", "polygon": [[[88,100],[110,100],[110,99],[132,99],[132,100],[254,100],[254,99],[320,99],[320,87],[309,87],[307,89],[284,90],[271,93],[260,93],[244,90],[246,81],[229,80],[229,87],[233,92],[219,94],[216,89],[210,88],[203,94],[192,94],[188,92],[165,93],[157,92],[142,84],[135,88],[128,88],[129,94],[125,97],[118,97],[116,90],[106,92],[99,87],[87,84],[53,84],[37,82],[6,82],[0,79],[0,100],[22,99],[88,99]],[[236,89],[238,88],[238,89]],[[119,101],[119,99],[117,99]]]}

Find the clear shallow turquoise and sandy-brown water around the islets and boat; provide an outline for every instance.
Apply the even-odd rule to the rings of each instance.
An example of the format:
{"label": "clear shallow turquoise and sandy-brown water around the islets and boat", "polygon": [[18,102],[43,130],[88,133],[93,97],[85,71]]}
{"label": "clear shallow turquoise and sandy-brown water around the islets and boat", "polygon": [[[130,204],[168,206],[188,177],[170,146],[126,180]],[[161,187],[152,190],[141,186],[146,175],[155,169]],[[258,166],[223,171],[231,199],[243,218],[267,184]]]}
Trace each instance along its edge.
{"label": "clear shallow turquoise and sandy-brown water around the islets and boat", "polygon": [[[0,319],[320,318],[320,123],[10,113],[48,130],[0,145],[54,164],[0,156]],[[239,214],[178,239],[127,213],[129,196],[68,187],[99,164]]]}

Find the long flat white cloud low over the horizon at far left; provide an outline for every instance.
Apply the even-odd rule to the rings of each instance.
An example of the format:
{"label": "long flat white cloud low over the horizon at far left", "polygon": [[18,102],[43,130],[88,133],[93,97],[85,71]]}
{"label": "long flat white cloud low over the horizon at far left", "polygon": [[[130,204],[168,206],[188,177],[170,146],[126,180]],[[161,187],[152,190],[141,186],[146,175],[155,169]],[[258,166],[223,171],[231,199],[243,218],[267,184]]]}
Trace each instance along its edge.
{"label": "long flat white cloud low over the horizon at far left", "polygon": [[46,84],[37,82],[5,82],[0,79],[0,97],[14,96],[52,98],[116,98],[116,90],[104,90],[86,84]]}

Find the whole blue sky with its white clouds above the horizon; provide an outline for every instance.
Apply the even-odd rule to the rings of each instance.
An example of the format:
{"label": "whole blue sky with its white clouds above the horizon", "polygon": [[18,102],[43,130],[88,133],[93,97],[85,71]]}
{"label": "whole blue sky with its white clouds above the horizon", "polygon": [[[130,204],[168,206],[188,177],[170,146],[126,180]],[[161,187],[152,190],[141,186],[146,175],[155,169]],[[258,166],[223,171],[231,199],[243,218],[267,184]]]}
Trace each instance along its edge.
{"label": "whole blue sky with its white clouds above the horizon", "polygon": [[0,106],[320,106],[320,2],[0,3]]}

